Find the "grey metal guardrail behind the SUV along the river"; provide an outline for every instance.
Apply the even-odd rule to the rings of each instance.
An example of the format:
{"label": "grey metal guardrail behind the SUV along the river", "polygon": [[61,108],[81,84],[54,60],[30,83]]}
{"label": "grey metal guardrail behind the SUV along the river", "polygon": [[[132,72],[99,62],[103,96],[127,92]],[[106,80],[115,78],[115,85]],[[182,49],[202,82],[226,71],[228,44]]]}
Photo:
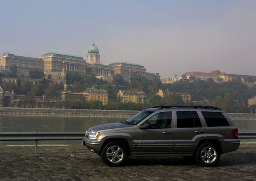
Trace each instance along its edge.
{"label": "grey metal guardrail behind the SUV along the river", "polygon": [[[0,141],[82,140],[85,132],[0,132]],[[256,139],[256,132],[239,132],[238,139]]]}

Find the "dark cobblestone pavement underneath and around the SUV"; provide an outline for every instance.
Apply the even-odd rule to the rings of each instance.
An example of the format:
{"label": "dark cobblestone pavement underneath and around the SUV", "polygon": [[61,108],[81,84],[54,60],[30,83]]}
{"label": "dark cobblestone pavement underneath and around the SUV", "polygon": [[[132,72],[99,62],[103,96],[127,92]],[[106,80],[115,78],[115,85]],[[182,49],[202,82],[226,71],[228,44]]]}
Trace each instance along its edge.
{"label": "dark cobblestone pavement underneath and around the SUV", "polygon": [[256,181],[256,144],[222,154],[215,167],[182,157],[130,157],[108,167],[82,145],[0,147],[0,181]]}

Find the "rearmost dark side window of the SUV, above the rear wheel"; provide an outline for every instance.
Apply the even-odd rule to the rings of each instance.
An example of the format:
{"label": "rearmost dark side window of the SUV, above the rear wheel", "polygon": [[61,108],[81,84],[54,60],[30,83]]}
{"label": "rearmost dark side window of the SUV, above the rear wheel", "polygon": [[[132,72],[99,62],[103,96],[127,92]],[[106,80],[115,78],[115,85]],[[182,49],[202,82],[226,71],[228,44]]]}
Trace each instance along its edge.
{"label": "rearmost dark side window of the SUV, above the rear wheel", "polygon": [[230,126],[226,117],[221,112],[202,111],[202,115],[208,127]]}

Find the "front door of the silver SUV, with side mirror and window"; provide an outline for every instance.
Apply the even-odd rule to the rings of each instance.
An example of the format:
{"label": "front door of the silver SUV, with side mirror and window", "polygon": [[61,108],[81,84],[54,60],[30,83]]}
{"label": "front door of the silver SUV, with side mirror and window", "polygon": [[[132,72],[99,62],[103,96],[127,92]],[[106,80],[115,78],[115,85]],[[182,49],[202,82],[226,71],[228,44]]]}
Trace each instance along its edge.
{"label": "front door of the silver SUV, with side mirror and window", "polygon": [[[156,113],[136,127],[137,154],[169,154],[173,149],[173,111]],[[149,128],[141,126],[148,124]]]}

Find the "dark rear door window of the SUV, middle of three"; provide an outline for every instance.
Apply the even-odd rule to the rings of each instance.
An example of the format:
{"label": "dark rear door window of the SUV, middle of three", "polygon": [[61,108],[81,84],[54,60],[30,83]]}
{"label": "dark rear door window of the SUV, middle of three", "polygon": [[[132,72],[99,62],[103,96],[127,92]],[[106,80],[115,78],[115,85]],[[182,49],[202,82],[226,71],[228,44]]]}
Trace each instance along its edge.
{"label": "dark rear door window of the SUV, middle of three", "polygon": [[202,127],[196,111],[177,111],[177,128]]}

